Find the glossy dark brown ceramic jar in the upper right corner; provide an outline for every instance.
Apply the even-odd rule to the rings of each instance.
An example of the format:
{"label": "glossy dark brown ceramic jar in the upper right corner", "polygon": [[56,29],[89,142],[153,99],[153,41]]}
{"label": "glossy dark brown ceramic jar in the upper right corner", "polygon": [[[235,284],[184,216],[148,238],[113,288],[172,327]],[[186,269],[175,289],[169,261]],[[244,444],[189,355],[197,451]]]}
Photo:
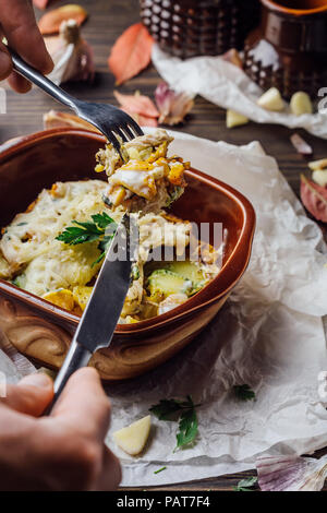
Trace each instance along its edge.
{"label": "glossy dark brown ceramic jar in the upper right corner", "polygon": [[244,70],[284,98],[327,85],[327,0],[261,0],[262,23],[244,49]]}

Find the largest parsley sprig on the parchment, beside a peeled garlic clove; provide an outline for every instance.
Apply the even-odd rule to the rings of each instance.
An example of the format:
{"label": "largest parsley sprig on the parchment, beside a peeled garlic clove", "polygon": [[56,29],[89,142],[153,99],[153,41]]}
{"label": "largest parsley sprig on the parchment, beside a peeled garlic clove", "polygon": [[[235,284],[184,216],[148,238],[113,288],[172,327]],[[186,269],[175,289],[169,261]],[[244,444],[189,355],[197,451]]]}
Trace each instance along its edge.
{"label": "largest parsley sprig on the parchment, beside a peeled garlic clove", "polygon": [[196,407],[192,397],[187,395],[186,401],[161,399],[159,404],[152,406],[152,411],[159,420],[179,420],[177,432],[177,446],[185,448],[194,442],[198,433]]}

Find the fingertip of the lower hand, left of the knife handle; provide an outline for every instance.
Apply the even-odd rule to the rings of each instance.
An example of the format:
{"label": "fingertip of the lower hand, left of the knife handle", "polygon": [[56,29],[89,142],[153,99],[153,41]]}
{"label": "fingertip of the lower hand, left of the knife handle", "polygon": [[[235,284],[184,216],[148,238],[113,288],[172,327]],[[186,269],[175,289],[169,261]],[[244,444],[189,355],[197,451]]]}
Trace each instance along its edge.
{"label": "fingertip of the lower hand, left of the knife handle", "polygon": [[53,382],[46,374],[29,374],[16,385],[9,385],[1,403],[33,417],[39,417],[53,397]]}

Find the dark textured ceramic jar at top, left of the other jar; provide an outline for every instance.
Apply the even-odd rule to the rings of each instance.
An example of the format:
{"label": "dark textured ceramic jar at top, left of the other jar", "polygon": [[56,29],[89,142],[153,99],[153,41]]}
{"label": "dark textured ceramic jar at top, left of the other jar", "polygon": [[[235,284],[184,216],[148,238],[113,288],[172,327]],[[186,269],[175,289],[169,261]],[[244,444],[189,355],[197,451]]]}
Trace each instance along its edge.
{"label": "dark textured ceramic jar at top, left of the other jar", "polygon": [[169,53],[217,56],[243,48],[258,24],[259,0],[141,0],[141,16]]}

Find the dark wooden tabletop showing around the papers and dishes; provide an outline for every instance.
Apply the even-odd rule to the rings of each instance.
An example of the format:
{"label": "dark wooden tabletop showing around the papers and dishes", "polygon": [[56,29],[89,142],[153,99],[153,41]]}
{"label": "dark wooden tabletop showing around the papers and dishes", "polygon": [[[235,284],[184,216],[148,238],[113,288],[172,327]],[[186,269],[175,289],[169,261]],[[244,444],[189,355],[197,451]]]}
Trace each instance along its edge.
{"label": "dark wooden tabletop showing around the papers and dishes", "polygon": [[[58,1],[56,5],[68,3]],[[66,85],[64,88],[81,99],[117,104],[113,97],[114,77],[109,72],[107,58],[117,37],[131,24],[140,20],[138,0],[78,0],[89,13],[89,20],[83,27],[84,37],[92,44],[95,51],[96,80],[94,84]],[[39,12],[37,12],[39,15]],[[121,93],[134,93],[136,90],[153,96],[160,81],[156,70],[150,67],[137,77],[120,87]],[[322,84],[324,85],[324,84]],[[8,86],[0,83],[0,86]],[[0,115],[0,144],[8,139],[36,132],[43,129],[43,114],[59,108],[51,98],[34,88],[27,95],[17,95],[8,90],[8,114]],[[226,111],[205,99],[197,97],[195,107],[187,122],[175,130],[185,131],[193,135],[207,138],[213,141],[222,140],[232,144],[245,144],[257,140],[265,151],[277,158],[281,172],[291,188],[299,194],[300,172],[307,169],[306,162],[294,151],[290,143],[291,130],[274,124],[256,124],[251,122],[245,127],[228,130],[225,123]],[[314,148],[314,158],[327,157],[327,143],[298,131]],[[203,479],[190,484],[162,487],[167,490],[231,490],[244,475],[233,475],[213,479]],[[145,489],[144,487],[142,489]],[[156,488],[158,489],[158,488]]]}

